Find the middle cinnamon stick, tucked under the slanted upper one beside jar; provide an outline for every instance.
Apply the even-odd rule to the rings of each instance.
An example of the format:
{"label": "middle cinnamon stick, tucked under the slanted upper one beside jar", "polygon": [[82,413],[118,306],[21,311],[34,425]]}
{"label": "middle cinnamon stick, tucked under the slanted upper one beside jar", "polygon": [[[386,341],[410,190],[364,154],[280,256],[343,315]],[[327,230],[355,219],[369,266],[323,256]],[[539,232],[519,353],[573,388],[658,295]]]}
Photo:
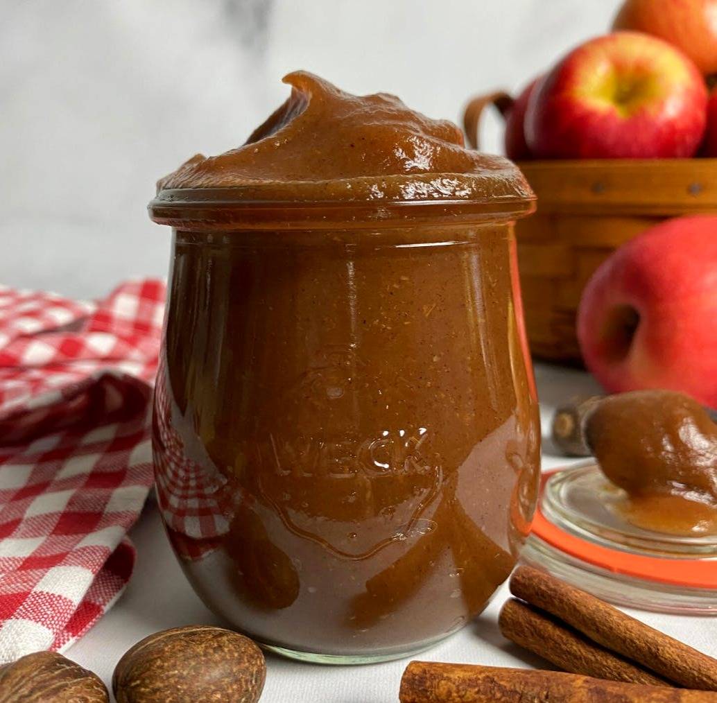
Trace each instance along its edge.
{"label": "middle cinnamon stick, tucked under the slanted upper one beside jar", "polygon": [[605,649],[547,613],[515,598],[505,602],[498,626],[507,639],[532,651],[563,671],[630,684],[670,686],[619,654]]}

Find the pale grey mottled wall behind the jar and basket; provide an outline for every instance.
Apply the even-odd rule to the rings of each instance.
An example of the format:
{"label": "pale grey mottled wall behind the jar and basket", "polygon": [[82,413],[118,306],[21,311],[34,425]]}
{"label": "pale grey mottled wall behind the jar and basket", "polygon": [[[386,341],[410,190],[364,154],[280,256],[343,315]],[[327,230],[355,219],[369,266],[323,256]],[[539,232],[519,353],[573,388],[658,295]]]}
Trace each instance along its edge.
{"label": "pale grey mottled wall behind the jar and basket", "polygon": [[[516,90],[619,0],[0,0],[0,282],[97,297],[166,273],[145,206],[242,143],[305,68],[432,117]],[[498,121],[486,150],[500,150]]]}

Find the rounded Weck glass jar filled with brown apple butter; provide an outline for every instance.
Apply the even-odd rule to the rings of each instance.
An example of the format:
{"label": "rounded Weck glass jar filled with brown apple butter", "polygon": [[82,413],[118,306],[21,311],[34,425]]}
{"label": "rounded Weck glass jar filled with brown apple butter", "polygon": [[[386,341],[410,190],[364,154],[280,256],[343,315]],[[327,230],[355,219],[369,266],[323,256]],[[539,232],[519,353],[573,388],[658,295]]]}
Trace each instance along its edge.
{"label": "rounded Weck glass jar filled with brown apple butter", "polygon": [[359,663],[485,607],[536,503],[512,227],[531,209],[153,201],[174,228],[158,502],[212,611],[282,654]]}

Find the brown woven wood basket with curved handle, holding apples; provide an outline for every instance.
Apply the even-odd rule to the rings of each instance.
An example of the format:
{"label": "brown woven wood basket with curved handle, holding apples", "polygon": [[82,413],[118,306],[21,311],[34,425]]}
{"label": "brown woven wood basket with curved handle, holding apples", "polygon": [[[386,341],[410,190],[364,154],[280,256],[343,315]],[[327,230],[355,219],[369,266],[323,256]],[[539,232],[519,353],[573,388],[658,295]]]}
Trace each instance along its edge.
{"label": "brown woven wood basket with curved handle, holding apples", "polygon": [[[505,94],[476,98],[466,109],[465,128],[474,146],[480,113],[490,104],[505,113]],[[589,277],[647,227],[678,215],[717,213],[717,158],[525,161],[518,166],[538,196],[536,214],[516,226],[531,352],[543,360],[581,365],[575,322]]]}

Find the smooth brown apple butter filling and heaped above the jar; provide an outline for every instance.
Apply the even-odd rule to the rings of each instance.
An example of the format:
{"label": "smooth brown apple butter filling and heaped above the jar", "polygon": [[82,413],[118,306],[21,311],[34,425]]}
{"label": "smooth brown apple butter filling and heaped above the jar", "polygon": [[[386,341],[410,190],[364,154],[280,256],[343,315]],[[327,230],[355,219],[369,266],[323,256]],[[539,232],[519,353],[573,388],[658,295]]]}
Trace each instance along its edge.
{"label": "smooth brown apple butter filling and heaped above the jar", "polygon": [[462,626],[510,573],[536,500],[537,404],[509,216],[384,227],[356,223],[353,200],[531,194],[395,97],[286,80],[247,145],[160,188],[290,196],[319,217],[317,201],[346,200],[346,224],[318,239],[178,226],[158,495],[194,588],[244,631],[391,654]]}

